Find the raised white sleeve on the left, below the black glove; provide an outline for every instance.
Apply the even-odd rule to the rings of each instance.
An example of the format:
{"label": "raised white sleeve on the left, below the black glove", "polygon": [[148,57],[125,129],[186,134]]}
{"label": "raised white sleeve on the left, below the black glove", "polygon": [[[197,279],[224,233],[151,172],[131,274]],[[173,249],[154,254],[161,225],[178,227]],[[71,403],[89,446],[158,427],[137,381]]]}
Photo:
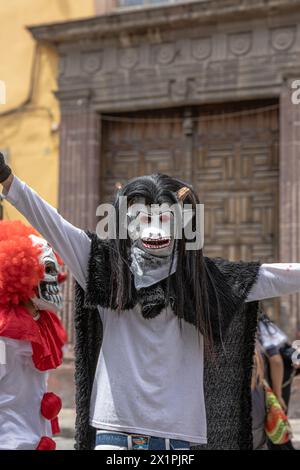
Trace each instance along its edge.
{"label": "raised white sleeve on the left, below the black glove", "polygon": [[50,243],[81,287],[85,288],[91,247],[87,234],[67,222],[54,207],[16,176],[4,198]]}

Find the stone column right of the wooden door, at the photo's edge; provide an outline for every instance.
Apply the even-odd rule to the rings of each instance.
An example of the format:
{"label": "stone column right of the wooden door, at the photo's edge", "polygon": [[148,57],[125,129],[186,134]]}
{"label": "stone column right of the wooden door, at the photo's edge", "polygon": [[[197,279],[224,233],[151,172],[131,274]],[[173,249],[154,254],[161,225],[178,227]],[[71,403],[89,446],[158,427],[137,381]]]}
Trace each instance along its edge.
{"label": "stone column right of the wooden door, at the photo's edge", "polygon": [[[292,100],[293,81],[286,79],[280,96],[279,252],[281,262],[300,263],[300,103]],[[295,338],[300,330],[300,294],[282,297],[281,322]]]}

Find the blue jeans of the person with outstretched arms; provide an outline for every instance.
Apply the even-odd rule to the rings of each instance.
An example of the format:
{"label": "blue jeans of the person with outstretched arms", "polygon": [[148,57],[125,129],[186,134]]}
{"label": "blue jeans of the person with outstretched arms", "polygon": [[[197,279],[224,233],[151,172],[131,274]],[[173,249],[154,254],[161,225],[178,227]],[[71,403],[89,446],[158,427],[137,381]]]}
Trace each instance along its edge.
{"label": "blue jeans of the person with outstretched arms", "polygon": [[190,443],[178,439],[107,431],[96,434],[95,450],[189,450]]}

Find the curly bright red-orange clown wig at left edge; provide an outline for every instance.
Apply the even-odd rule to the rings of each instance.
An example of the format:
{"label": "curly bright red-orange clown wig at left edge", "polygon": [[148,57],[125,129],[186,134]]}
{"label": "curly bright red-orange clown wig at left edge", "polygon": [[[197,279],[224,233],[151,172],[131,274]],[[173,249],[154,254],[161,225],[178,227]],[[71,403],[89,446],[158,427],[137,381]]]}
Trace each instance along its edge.
{"label": "curly bright red-orange clown wig at left edge", "polygon": [[0,305],[18,305],[36,295],[44,278],[40,248],[29,235],[39,234],[20,221],[0,221]]}

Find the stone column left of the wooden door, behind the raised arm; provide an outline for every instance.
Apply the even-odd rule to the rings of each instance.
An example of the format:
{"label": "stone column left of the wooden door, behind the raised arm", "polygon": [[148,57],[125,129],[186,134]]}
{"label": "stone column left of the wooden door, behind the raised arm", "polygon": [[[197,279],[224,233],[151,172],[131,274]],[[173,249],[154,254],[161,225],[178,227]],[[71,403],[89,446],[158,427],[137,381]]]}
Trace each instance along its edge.
{"label": "stone column left of the wooden door, behind the raised arm", "polygon": [[[61,104],[59,212],[73,225],[95,230],[100,203],[100,115],[89,107],[88,90],[64,96]],[[73,280],[64,286],[63,321],[74,342]]]}

